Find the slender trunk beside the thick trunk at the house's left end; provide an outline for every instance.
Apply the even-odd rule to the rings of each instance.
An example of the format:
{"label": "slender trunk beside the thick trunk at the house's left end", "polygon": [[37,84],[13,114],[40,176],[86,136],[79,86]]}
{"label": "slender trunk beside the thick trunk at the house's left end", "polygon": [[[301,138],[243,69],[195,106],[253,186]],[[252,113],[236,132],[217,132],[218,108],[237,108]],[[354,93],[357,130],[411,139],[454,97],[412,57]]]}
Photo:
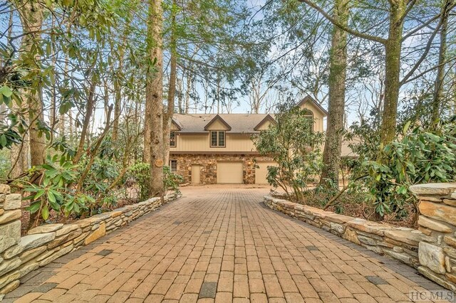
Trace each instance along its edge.
{"label": "slender trunk beside the thick trunk at the house's left end", "polygon": [[[176,5],[176,1],[172,1],[172,5]],[[167,111],[163,117],[163,159],[165,165],[169,165],[170,162],[170,129],[172,115],[174,114],[174,99],[176,95],[176,70],[177,70],[177,53],[176,53],[176,13],[175,9],[172,8],[171,13],[171,41],[170,41],[170,83],[168,86],[168,98],[167,98]]]}

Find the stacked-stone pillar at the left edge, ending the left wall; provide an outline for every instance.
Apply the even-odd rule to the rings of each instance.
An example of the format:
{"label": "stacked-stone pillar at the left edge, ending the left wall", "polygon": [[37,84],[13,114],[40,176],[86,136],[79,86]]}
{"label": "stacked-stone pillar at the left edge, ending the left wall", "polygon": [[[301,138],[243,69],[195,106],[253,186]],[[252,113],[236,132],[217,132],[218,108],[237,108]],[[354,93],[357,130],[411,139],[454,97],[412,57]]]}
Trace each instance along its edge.
{"label": "stacked-stone pillar at the left edge, ending the left wall", "polygon": [[20,264],[10,257],[21,241],[21,194],[11,193],[9,186],[0,184],[0,300],[4,294],[19,286],[17,277],[4,274]]}

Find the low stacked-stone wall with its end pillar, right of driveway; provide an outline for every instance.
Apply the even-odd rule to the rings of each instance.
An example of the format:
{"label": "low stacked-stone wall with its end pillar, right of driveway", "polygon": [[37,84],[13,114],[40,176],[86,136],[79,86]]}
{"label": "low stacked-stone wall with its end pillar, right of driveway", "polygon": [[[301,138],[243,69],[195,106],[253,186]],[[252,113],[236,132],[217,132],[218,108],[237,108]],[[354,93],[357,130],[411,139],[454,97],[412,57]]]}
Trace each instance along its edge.
{"label": "low stacked-stone wall with its end pillar, right of driveway", "polygon": [[264,203],[380,255],[405,262],[456,292],[456,184],[415,185],[410,191],[420,200],[419,230],[338,215],[271,196],[264,196]]}

